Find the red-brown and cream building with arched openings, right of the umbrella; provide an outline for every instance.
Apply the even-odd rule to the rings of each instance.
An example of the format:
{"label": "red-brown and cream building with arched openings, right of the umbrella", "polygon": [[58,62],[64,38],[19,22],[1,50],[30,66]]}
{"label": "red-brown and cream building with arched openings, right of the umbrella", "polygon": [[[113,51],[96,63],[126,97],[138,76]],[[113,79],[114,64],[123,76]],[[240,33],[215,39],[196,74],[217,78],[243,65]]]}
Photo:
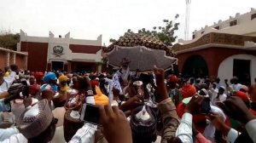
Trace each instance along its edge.
{"label": "red-brown and cream building with arched openings, right of the umbrella", "polygon": [[179,40],[179,72],[194,77],[238,77],[241,83],[254,83],[256,77],[256,10],[230,16],[193,32],[193,39]]}

